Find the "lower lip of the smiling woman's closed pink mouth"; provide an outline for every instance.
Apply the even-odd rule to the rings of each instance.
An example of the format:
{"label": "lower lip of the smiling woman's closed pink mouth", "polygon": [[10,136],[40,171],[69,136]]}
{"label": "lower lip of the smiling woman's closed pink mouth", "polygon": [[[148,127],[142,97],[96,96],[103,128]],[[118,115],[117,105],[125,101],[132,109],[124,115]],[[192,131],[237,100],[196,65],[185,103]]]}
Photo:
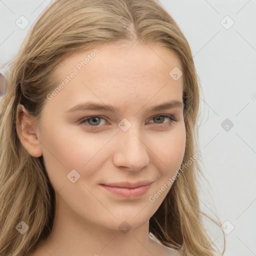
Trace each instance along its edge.
{"label": "lower lip of the smiling woman's closed pink mouth", "polygon": [[107,186],[103,184],[100,184],[100,186],[104,187],[106,190],[112,193],[119,194],[124,197],[137,197],[145,194],[148,191],[150,184],[144,186],[137,186],[134,188]]}

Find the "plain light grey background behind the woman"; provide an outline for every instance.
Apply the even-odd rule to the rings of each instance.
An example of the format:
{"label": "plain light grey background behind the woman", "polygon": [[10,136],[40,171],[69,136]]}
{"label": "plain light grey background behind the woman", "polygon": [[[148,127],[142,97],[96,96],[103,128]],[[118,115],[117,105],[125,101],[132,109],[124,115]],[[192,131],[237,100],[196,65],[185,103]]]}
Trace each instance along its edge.
{"label": "plain light grey background behind the woman", "polygon": [[[0,0],[0,64],[49,3]],[[201,183],[201,208],[223,223],[225,256],[256,255],[256,0],[160,3],[186,36],[202,85],[199,150],[208,183]],[[15,24],[21,15],[29,21],[24,29]],[[221,244],[221,233],[207,223]]]}

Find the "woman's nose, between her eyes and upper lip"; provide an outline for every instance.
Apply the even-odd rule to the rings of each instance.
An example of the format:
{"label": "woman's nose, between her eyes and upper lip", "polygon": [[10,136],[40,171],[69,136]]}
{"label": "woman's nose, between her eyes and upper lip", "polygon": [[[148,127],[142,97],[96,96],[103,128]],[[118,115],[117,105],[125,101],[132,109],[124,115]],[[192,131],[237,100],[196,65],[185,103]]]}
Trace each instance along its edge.
{"label": "woman's nose, between her eyes and upper lip", "polygon": [[137,171],[149,163],[149,157],[145,141],[140,138],[137,129],[132,125],[127,131],[118,130],[116,134],[116,150],[113,162],[117,167],[125,167],[127,170]]}

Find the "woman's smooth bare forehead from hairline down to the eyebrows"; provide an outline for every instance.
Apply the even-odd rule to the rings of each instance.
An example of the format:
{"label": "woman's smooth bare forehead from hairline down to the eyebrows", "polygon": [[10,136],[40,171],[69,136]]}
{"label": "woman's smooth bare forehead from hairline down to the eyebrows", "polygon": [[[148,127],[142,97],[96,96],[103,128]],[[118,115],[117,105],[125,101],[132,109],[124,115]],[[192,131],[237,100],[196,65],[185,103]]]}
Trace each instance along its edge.
{"label": "woman's smooth bare forehead from hairline down to the eyebrows", "polygon": [[73,53],[56,66],[54,79],[64,86],[53,100],[64,101],[67,108],[85,100],[123,107],[150,98],[182,98],[182,76],[174,80],[173,68],[182,70],[179,58],[159,44],[101,45]]}

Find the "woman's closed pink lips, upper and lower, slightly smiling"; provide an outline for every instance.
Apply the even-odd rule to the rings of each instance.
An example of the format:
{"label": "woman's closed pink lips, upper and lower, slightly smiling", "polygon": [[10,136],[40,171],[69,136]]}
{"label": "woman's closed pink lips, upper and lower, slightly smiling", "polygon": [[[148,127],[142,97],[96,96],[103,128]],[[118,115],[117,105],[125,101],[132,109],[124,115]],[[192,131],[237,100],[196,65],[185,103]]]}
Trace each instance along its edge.
{"label": "woman's closed pink lips, upper and lower, slightly smiling", "polygon": [[143,181],[136,183],[119,182],[99,185],[114,194],[124,197],[137,197],[145,194],[148,191],[151,183],[151,181]]}

